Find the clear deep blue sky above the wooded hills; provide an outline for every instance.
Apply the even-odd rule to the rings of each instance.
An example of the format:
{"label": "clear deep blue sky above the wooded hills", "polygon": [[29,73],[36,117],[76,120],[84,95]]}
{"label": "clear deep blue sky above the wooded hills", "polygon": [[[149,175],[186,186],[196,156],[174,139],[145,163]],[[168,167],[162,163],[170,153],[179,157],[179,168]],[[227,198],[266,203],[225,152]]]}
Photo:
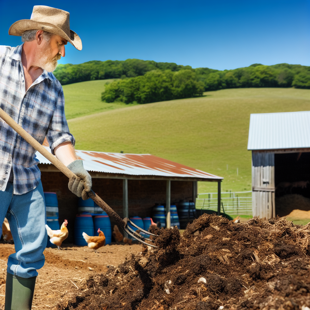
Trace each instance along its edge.
{"label": "clear deep blue sky above the wooded hills", "polygon": [[0,44],[16,46],[12,23],[33,5],[70,12],[83,49],[70,44],[60,63],[138,58],[193,68],[310,65],[310,1],[8,1],[0,0]]}

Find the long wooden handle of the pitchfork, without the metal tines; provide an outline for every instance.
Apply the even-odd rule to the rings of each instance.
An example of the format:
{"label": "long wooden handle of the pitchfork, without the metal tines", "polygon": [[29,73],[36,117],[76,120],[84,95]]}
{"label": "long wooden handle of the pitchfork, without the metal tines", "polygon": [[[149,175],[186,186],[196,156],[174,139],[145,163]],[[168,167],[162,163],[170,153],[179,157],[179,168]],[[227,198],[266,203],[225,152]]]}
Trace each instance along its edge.
{"label": "long wooden handle of the pitchfork, without the metal tines", "polygon": [[[72,177],[77,177],[68,167],[66,167],[56,156],[52,155],[44,146],[42,146],[36,139],[34,139],[28,132],[26,132],[20,125],[18,125],[7,113],[5,113],[2,108],[0,108],[0,117],[12,128],[14,129],[21,137],[23,137],[35,150],[41,153],[46,159],[48,159],[55,167],[57,167],[62,173],[64,173],[69,179]],[[122,220],[122,218],[106,204],[97,194],[93,191],[87,193],[88,196],[95,201],[95,203],[100,206],[110,217],[116,220],[117,224],[121,228],[125,228],[127,224]]]}

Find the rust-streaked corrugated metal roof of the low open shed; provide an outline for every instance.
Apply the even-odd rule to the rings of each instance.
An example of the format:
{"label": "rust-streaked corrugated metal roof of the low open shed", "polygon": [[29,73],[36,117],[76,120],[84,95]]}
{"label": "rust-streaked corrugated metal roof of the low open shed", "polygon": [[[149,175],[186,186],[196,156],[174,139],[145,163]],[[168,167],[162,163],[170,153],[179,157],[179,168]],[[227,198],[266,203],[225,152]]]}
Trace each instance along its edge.
{"label": "rust-streaked corrugated metal roof of the low open shed", "polygon": [[[50,151],[45,140],[43,146]],[[223,179],[210,173],[190,168],[151,154],[105,153],[76,150],[87,171],[125,174],[152,175],[163,177],[193,177],[201,179]],[[41,164],[51,164],[39,152],[36,153]]]}

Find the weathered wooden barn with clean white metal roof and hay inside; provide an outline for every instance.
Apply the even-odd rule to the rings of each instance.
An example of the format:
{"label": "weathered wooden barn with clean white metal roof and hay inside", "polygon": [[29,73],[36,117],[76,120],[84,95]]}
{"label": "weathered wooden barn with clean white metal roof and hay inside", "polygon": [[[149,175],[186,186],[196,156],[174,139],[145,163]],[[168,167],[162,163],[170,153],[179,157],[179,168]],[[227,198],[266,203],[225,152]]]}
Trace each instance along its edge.
{"label": "weathered wooden barn with clean white metal roof and hay inside", "polygon": [[253,216],[275,217],[277,197],[310,197],[310,111],[251,114],[248,150]]}

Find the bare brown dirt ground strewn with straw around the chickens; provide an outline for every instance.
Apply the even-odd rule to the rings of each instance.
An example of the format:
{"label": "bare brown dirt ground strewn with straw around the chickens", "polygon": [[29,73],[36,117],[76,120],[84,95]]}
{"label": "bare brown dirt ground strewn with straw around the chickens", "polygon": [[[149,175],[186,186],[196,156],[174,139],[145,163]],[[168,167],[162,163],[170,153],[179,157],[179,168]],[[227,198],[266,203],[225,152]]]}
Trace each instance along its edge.
{"label": "bare brown dirt ground strewn with straw around the chickens", "polygon": [[[75,298],[77,292],[86,289],[86,281],[94,274],[108,271],[132,253],[141,251],[138,244],[107,245],[99,254],[87,246],[63,244],[63,250],[47,248],[44,251],[45,264],[38,270],[33,298],[33,309],[56,309],[59,302]],[[0,244],[0,309],[4,309],[7,258],[14,253],[14,245]]]}

